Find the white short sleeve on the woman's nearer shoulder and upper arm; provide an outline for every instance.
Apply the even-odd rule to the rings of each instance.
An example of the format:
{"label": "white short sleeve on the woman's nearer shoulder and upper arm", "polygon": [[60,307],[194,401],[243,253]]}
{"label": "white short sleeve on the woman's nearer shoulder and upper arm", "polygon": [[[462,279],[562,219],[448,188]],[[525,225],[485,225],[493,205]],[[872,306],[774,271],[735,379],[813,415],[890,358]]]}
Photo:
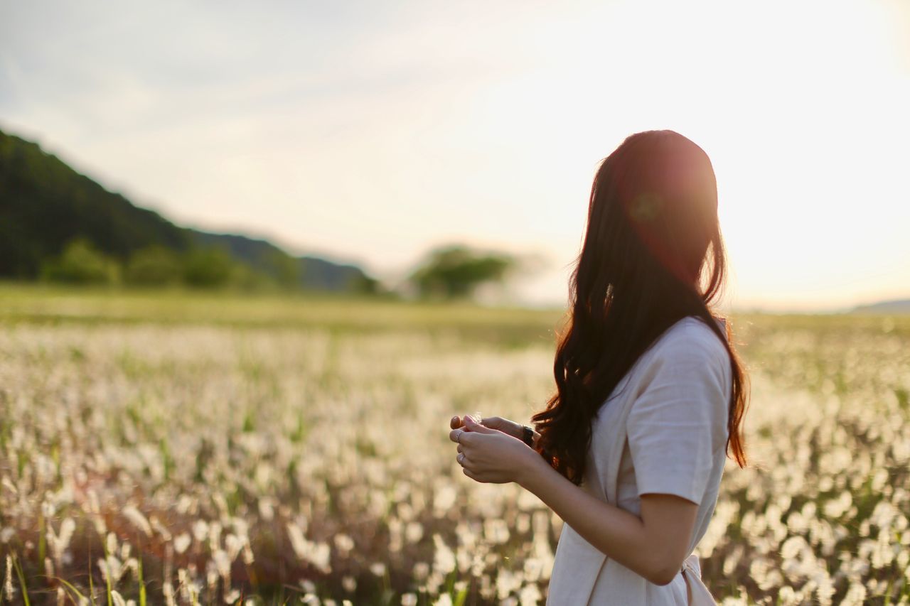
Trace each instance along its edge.
{"label": "white short sleeve on the woman's nearer shoulder and upper arm", "polygon": [[638,494],[668,493],[700,504],[715,451],[726,441],[730,361],[699,320],[659,346],[626,422]]}

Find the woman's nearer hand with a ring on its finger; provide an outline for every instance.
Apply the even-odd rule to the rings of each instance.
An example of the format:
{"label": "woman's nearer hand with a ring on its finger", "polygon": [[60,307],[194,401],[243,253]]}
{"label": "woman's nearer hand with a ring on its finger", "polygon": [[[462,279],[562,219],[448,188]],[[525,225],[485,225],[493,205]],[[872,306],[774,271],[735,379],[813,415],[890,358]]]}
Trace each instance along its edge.
{"label": "woman's nearer hand with a ring on its finger", "polygon": [[464,427],[452,429],[449,439],[458,442],[457,460],[464,475],[471,480],[495,484],[521,483],[535,466],[544,464],[541,456],[521,439],[499,429],[485,427],[470,417],[465,417],[463,421]]}

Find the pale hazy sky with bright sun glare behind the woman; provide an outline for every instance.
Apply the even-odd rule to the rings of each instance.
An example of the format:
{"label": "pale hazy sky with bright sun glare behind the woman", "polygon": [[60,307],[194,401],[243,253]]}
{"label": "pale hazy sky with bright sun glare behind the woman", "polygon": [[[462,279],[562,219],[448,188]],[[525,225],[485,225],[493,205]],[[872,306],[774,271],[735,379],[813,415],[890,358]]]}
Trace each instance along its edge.
{"label": "pale hazy sky with bright sun glare behind the woman", "polygon": [[591,179],[671,128],[712,158],[725,305],[910,298],[910,0],[0,0],[0,128],[172,220],[389,283],[536,259],[561,304]]}

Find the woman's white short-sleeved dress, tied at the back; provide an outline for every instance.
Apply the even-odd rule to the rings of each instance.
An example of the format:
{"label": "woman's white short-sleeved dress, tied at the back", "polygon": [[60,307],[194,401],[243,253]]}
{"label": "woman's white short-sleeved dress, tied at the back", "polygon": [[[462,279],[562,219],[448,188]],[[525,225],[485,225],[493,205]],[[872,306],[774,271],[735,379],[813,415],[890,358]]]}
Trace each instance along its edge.
{"label": "woman's white short-sleeved dress, tied at the back", "polygon": [[[729,356],[713,330],[693,317],[673,324],[593,420],[581,487],[636,515],[641,495],[649,492],[697,503],[691,553],[708,528],[720,489],[732,383]],[[548,603],[584,603],[585,591],[589,604],[686,604],[681,574],[655,585],[607,559],[564,524]]]}

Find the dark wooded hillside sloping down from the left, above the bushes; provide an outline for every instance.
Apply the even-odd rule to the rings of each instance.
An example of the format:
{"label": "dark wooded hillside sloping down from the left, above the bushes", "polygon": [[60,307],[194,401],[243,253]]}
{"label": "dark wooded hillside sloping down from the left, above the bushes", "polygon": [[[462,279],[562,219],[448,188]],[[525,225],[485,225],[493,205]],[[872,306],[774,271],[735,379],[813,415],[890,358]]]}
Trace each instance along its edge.
{"label": "dark wooded hillside sloping down from the left, above the bushes", "polygon": [[301,288],[341,291],[369,288],[373,282],[357,266],[294,257],[267,240],[177,226],[106,190],[37,144],[0,130],[0,278],[38,278],[45,261],[76,237],[120,262],[151,246],[177,253],[217,247],[278,281],[291,277]]}

